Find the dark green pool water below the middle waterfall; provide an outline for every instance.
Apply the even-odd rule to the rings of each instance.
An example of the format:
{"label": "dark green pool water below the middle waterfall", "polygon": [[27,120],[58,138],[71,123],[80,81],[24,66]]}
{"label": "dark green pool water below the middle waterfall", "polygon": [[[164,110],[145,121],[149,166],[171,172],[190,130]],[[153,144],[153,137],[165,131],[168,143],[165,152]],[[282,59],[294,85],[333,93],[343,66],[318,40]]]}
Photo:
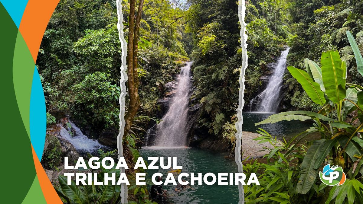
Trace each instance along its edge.
{"label": "dark green pool water below the middle waterfall", "polygon": [[[202,175],[207,172],[216,175],[219,172],[237,172],[237,165],[234,160],[225,158],[228,153],[219,151],[195,148],[154,149],[145,147],[140,153],[144,159],[147,157],[177,157],[178,165],[183,166],[181,172],[202,173]],[[156,165],[159,164],[160,162],[156,163]],[[151,179],[152,174],[161,172],[164,174],[163,181],[165,181],[168,171],[170,170],[149,169],[147,170],[147,179]],[[185,180],[190,182],[190,177],[185,178]],[[150,186],[148,188],[150,190]],[[193,185],[181,192],[176,192],[176,186],[172,184],[163,186],[163,188],[167,190],[171,203],[238,203],[238,186],[235,185]]]}

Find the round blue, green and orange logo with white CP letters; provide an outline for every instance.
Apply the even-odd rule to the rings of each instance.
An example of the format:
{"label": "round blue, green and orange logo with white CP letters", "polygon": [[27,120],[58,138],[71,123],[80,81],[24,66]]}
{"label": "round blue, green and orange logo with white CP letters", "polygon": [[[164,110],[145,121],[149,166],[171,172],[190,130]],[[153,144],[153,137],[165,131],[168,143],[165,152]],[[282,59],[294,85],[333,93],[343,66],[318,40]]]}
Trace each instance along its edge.
{"label": "round blue, green and orange logo with white CP letters", "polygon": [[323,172],[319,171],[319,177],[320,180],[328,186],[340,186],[345,182],[346,179],[342,167],[330,167],[330,165],[325,165],[323,168]]}

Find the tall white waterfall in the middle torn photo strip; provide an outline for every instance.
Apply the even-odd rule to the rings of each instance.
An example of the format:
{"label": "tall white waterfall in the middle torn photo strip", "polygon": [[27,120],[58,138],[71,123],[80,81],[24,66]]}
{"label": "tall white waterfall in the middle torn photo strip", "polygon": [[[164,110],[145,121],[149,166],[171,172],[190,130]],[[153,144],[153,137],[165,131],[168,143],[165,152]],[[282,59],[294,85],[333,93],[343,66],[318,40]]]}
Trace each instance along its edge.
{"label": "tall white waterfall in the middle torn photo strip", "polygon": [[176,94],[171,100],[171,105],[156,126],[155,146],[175,147],[187,145],[187,128],[185,125],[188,120],[188,107],[190,90],[192,86],[190,66],[192,62],[181,68],[178,75]]}

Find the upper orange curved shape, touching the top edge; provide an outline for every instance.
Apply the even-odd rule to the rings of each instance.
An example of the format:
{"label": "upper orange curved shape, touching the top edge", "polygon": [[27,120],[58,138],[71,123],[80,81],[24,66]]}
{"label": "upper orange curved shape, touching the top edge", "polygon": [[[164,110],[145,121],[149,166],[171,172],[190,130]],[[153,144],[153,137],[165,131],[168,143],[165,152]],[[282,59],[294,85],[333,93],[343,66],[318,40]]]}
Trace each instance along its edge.
{"label": "upper orange curved shape, touching the top edge", "polygon": [[59,0],[29,0],[25,7],[19,31],[28,45],[34,62],[37,60],[46,26],[58,2]]}

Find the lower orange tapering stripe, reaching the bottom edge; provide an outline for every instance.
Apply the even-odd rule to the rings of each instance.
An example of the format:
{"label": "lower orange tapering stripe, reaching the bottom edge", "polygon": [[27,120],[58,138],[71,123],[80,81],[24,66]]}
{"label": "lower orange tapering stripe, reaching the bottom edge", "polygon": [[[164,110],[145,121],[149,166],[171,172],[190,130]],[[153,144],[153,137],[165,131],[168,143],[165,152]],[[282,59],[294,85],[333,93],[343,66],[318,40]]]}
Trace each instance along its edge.
{"label": "lower orange tapering stripe, reaching the bottom edge", "polygon": [[50,180],[48,179],[48,176],[46,175],[44,168],[42,167],[42,165],[38,159],[38,156],[35,153],[33,145],[32,145],[32,152],[33,152],[35,170],[38,175],[40,188],[43,191],[43,196],[45,198],[45,201],[47,203],[52,203],[52,204],[58,204],[58,203],[62,204],[63,202],[61,201],[57,192],[54,190],[52,183],[50,183]]}

